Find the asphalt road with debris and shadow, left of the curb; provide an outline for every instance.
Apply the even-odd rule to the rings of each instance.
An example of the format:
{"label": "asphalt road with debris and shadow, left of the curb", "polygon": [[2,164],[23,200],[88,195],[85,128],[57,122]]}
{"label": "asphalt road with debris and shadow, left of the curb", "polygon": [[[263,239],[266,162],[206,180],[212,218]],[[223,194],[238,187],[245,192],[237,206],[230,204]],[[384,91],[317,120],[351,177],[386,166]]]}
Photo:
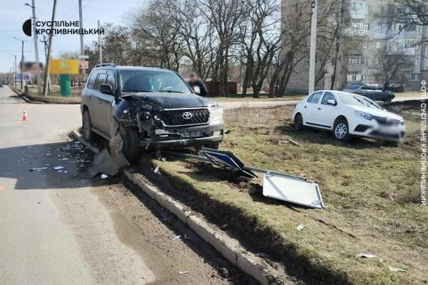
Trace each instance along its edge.
{"label": "asphalt road with debris and shadow, left of the curb", "polygon": [[184,229],[119,179],[75,177],[91,159],[67,136],[78,105],[26,104],[4,87],[0,114],[0,284],[230,284],[218,254],[173,241]]}

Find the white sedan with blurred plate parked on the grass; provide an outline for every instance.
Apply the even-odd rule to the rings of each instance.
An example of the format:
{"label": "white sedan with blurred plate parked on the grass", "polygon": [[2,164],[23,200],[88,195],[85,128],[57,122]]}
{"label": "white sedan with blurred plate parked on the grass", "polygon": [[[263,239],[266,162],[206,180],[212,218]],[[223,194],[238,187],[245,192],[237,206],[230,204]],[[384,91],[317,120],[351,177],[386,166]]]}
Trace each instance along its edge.
{"label": "white sedan with blurred plate parked on the grass", "polygon": [[383,109],[372,99],[342,91],[315,91],[300,101],[292,117],[295,129],[332,131],[335,139],[348,141],[365,136],[402,141],[406,127],[401,116]]}

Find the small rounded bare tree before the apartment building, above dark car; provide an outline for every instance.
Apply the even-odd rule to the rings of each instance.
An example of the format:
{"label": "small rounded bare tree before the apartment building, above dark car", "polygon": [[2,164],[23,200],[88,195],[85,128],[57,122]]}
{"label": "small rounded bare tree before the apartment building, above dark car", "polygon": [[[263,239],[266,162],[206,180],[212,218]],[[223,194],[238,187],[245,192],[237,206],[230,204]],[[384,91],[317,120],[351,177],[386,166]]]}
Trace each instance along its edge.
{"label": "small rounded bare tree before the apartment building, above dark car", "polygon": [[414,64],[414,57],[409,56],[405,49],[398,49],[390,44],[377,51],[370,69],[378,82],[384,87],[402,81],[404,73]]}

